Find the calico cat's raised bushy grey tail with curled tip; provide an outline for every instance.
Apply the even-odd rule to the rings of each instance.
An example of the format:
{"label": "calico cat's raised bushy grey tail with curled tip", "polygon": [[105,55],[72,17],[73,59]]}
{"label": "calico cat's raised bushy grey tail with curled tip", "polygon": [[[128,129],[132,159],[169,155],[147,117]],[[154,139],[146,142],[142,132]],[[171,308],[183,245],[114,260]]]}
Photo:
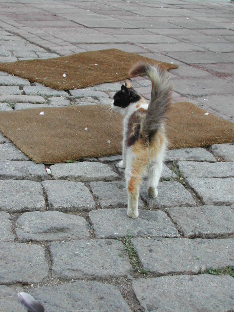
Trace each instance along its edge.
{"label": "calico cat's raised bushy grey tail with curled tip", "polygon": [[140,129],[141,137],[145,140],[150,139],[161,127],[169,109],[172,93],[170,78],[161,67],[147,63],[138,63],[129,74],[145,74],[152,82],[151,101]]}

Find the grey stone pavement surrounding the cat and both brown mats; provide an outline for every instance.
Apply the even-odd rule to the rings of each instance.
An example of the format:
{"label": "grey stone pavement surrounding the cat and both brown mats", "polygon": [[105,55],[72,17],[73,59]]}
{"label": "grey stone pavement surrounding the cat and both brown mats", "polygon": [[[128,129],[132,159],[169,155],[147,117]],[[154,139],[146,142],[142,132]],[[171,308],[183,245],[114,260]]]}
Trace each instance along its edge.
{"label": "grey stone pavement surrounding the cat and both brown mats", "polygon": [[[174,100],[233,120],[234,4],[0,0],[0,61],[118,48],[179,68]],[[149,80],[132,79],[150,98]],[[120,83],[56,91],[0,72],[0,110],[110,105]],[[0,134],[0,311],[234,311],[234,145],[170,150],[158,197],[126,215],[121,156],[36,164]],[[211,269],[213,268],[213,269]],[[223,270],[225,271],[225,269]]]}

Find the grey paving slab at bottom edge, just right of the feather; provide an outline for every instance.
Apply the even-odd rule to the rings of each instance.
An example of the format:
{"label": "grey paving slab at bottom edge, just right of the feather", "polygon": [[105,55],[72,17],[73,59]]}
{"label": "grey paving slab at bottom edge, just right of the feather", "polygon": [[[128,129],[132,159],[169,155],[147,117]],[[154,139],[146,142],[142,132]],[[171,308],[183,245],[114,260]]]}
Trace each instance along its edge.
{"label": "grey paving slab at bottom edge, just right of the feather", "polygon": [[117,287],[96,281],[42,286],[30,290],[30,294],[44,306],[45,311],[54,311],[56,307],[56,312],[131,312]]}

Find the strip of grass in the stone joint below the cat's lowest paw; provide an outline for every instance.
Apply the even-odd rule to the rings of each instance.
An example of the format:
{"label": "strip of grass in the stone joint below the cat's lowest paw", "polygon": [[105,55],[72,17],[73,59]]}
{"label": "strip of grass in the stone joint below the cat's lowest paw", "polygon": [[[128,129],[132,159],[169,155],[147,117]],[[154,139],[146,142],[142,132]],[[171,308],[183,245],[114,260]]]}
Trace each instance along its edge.
{"label": "strip of grass in the stone joint below the cat's lowest paw", "polygon": [[146,274],[147,271],[141,268],[140,261],[138,259],[137,251],[134,248],[134,245],[131,241],[131,236],[129,233],[126,234],[124,237],[124,250],[129,256],[130,263],[132,265],[132,270],[130,272],[140,273],[140,274]]}

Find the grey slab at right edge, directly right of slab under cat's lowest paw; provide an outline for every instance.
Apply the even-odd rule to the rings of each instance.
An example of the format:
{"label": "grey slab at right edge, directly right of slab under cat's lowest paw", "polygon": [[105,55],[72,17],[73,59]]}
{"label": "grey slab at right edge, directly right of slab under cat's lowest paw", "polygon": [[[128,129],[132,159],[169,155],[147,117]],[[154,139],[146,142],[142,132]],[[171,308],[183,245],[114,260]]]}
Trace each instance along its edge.
{"label": "grey slab at right edge, directly right of slab under cat's lowest paw", "polygon": [[234,206],[174,207],[167,212],[187,238],[234,234]]}

